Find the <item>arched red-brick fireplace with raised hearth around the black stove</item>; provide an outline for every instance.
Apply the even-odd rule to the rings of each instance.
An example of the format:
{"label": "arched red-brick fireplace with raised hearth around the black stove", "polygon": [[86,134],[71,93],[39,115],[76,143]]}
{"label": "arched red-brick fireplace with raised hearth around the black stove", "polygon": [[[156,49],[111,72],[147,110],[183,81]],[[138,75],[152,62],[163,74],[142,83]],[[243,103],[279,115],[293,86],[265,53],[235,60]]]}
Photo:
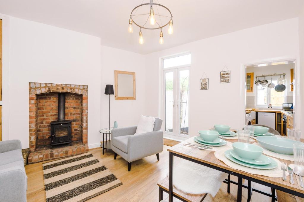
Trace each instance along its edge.
{"label": "arched red-brick fireplace with raised hearth around the black stove", "polygon": [[[71,143],[51,147],[51,122],[58,121],[58,97],[65,95],[65,121]],[[60,107],[59,107],[60,108]],[[61,115],[62,116],[62,115]],[[88,151],[88,86],[29,83],[29,163]]]}

